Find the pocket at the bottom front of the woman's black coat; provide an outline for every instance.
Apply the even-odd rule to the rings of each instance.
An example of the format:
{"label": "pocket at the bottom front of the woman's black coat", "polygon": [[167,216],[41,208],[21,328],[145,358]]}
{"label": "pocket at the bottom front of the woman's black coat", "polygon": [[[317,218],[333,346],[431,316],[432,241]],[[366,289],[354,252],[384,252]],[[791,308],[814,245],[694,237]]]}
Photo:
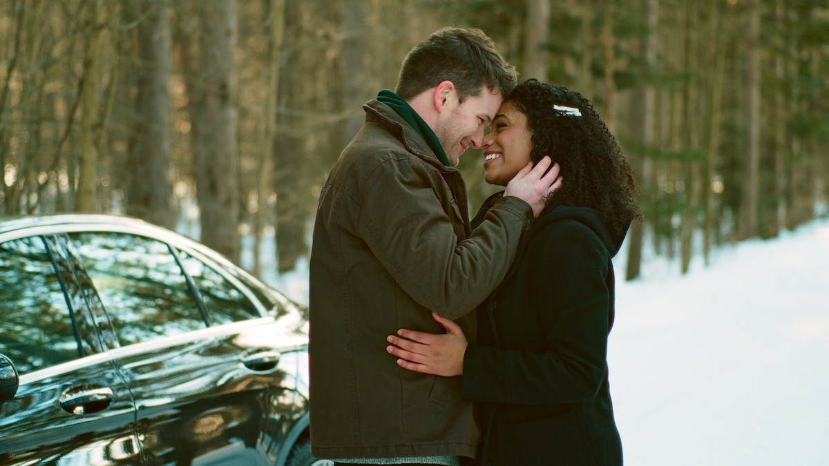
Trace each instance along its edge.
{"label": "pocket at the bottom front of the woman's black coat", "polygon": [[584,464],[572,410],[539,420],[498,423],[496,439],[501,466]]}

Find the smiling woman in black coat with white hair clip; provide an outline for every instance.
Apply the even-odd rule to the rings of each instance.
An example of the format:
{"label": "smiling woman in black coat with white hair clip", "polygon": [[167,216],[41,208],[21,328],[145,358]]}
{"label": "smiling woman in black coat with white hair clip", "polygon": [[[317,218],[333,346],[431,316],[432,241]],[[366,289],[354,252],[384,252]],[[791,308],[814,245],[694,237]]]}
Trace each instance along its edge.
{"label": "smiling woman in black coat with white hair clip", "polygon": [[487,182],[549,155],[564,184],[478,308],[477,342],[433,313],[446,334],[401,329],[387,350],[411,371],[463,375],[463,397],[480,402],[479,464],[622,464],[606,354],[611,258],[638,217],[632,170],[588,100],[537,80],[502,104],[483,147]]}

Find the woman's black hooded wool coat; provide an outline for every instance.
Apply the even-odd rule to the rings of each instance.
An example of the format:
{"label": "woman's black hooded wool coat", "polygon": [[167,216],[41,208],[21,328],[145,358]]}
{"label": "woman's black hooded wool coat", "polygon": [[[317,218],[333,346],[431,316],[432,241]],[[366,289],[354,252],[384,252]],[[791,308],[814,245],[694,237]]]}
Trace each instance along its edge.
{"label": "woman's black hooded wool coat", "polygon": [[607,343],[610,259],[623,237],[608,231],[598,211],[551,207],[478,308],[478,342],[463,360],[463,397],[481,402],[481,466],[622,464]]}

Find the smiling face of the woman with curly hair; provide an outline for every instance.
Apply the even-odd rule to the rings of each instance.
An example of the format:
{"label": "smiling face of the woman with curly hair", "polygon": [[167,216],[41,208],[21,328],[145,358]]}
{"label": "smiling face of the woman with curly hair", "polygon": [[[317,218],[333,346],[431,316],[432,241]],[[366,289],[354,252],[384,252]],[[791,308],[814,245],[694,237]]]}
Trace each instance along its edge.
{"label": "smiling face of the woman with curly hair", "polygon": [[507,182],[530,163],[531,138],[526,115],[510,100],[504,102],[492,120],[492,131],[483,138],[484,179],[489,184],[507,186]]}

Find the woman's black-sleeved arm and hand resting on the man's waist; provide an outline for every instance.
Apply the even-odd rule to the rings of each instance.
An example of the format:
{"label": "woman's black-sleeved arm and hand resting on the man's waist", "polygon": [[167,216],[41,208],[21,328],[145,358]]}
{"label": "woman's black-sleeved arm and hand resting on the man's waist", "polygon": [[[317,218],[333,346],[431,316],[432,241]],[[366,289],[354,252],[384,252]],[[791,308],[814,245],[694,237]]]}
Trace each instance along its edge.
{"label": "woman's black-sleeved arm and hand resting on the man's waist", "polygon": [[[526,404],[589,400],[599,391],[606,370],[607,249],[587,226],[560,221],[540,231],[524,257],[523,266],[531,272],[525,276],[531,278],[523,289],[537,294],[534,301],[545,330],[546,351],[463,347],[463,366],[455,370],[463,373],[463,396]],[[457,366],[458,345],[451,338],[405,330],[399,334],[408,340],[391,337],[390,342],[405,353],[400,348],[390,352],[408,359],[399,361],[400,366],[435,374],[429,369]]]}

